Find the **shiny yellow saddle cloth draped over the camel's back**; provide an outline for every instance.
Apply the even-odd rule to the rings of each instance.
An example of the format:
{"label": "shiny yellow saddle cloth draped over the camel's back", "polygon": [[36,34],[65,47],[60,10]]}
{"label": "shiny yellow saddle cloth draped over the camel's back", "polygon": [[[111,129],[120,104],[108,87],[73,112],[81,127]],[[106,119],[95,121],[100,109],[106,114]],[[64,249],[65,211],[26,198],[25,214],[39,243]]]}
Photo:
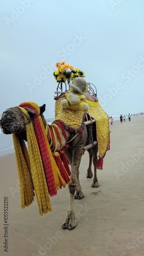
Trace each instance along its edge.
{"label": "shiny yellow saddle cloth draped over the camel's back", "polygon": [[[63,109],[61,106],[61,100],[59,98],[55,103],[55,119],[61,120],[69,128],[76,130],[81,129],[82,122],[85,118],[85,113],[82,111],[71,111],[68,109]],[[110,143],[110,134],[109,134],[109,117],[102,109],[99,101],[90,101],[86,100],[86,103],[89,104],[88,114],[95,119],[95,125],[97,130],[97,141],[98,141],[98,150],[99,157],[103,158],[108,146]]]}

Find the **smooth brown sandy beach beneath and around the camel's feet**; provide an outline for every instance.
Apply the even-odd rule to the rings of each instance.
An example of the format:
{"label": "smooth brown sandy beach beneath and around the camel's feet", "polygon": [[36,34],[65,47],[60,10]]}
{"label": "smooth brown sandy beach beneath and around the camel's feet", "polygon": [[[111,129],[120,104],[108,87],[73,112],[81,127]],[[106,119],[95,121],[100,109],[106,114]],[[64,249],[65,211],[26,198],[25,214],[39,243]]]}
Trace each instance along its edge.
{"label": "smooth brown sandy beach beneath and around the camel's feet", "polygon": [[[61,228],[68,208],[68,187],[51,198],[53,212],[49,214],[39,216],[36,200],[21,209],[15,156],[1,157],[0,255],[144,255],[143,123],[144,116],[138,116],[110,126],[111,149],[103,170],[98,170],[98,188],[92,188],[92,179],[86,179],[88,154],[84,154],[80,182],[85,197],[75,200],[78,223],[71,231]],[[4,198],[5,202],[8,198],[7,225]],[[7,242],[8,252],[4,251]]]}

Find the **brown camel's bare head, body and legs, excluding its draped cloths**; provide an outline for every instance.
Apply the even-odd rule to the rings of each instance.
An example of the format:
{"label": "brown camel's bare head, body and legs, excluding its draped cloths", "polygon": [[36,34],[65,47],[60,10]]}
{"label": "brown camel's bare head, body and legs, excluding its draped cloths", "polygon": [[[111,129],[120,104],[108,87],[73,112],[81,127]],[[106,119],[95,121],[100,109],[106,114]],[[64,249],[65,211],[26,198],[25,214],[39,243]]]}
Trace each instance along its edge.
{"label": "brown camel's bare head, body and legs, excluding its draped cloths", "polygon": [[[30,116],[30,121],[33,122],[35,118],[35,113],[33,110],[29,108],[25,108]],[[45,111],[45,104],[40,106],[40,116],[42,118],[44,126],[48,125],[43,113]],[[26,123],[25,119],[23,117],[22,112],[18,108],[18,106],[12,107],[10,109],[7,109],[3,114],[2,114],[2,119],[1,119],[1,129],[4,134],[12,134],[12,133],[17,133],[18,136],[20,136],[23,140],[27,141],[27,136],[26,136]],[[93,140],[97,141],[96,138],[96,131],[95,131],[95,123],[92,123],[92,135],[93,135]],[[51,125],[50,125],[51,126]],[[74,133],[70,132],[68,130],[65,130],[67,140],[63,136],[62,130],[59,127],[61,131],[61,136],[62,136],[62,144],[64,148],[65,155],[70,163],[71,166],[71,182],[68,184],[69,188],[69,193],[70,193],[70,198],[69,198],[69,207],[66,213],[66,218],[62,224],[63,229],[74,229],[77,225],[77,220],[75,217],[75,211],[74,211],[74,200],[78,199],[81,200],[84,197],[80,181],[79,181],[79,166],[81,162],[81,158],[83,155],[84,147],[89,144],[89,125],[85,125],[83,132],[78,133],[78,135],[73,139]],[[57,138],[58,140],[58,138]],[[69,142],[68,142],[69,141]],[[68,148],[65,148],[65,144],[69,145]],[[60,149],[60,143],[58,140],[58,148],[57,150]],[[92,187],[99,187],[99,182],[97,178],[97,168],[95,167],[95,164],[97,163],[98,160],[98,144],[95,144],[93,146],[93,150],[89,148],[88,150],[89,153],[89,166],[87,169],[87,174],[86,178],[92,178],[93,173],[91,170],[91,165],[93,161],[94,165],[94,178],[92,182]]]}

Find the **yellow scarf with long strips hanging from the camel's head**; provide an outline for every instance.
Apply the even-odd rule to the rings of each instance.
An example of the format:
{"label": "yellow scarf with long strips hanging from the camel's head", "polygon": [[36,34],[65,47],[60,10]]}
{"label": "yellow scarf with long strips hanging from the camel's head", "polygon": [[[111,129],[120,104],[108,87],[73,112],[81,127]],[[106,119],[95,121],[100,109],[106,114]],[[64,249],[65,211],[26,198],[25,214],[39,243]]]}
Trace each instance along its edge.
{"label": "yellow scarf with long strips hanging from the camel's head", "polygon": [[[34,102],[31,103],[39,111],[39,106]],[[30,118],[28,112],[18,107],[23,116],[25,116],[25,122],[28,122]],[[41,124],[41,132],[46,140],[47,150],[49,151],[51,163],[53,167],[53,173],[55,178],[55,184],[57,190],[66,183],[61,177],[60,170],[58,169],[56,162],[53,158],[49,142],[46,137],[44,125],[40,116],[38,116]],[[34,190],[37,198],[37,203],[39,207],[39,214],[43,215],[48,211],[52,211],[49,190],[47,188],[43,164],[39,152],[39,146],[35,136],[34,128],[32,122],[26,125],[28,150],[25,141],[19,138],[17,134],[13,134],[13,143],[16,156],[16,164],[19,178],[20,196],[21,196],[21,208],[29,206],[34,200]],[[28,152],[29,151],[29,152]]]}

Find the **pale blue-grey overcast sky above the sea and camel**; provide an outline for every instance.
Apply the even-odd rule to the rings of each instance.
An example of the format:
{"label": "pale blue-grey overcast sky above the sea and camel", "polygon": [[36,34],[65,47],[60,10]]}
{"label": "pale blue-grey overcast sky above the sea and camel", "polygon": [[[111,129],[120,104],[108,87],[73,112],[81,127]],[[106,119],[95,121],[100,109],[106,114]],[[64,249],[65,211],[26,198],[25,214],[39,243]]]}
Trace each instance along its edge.
{"label": "pale blue-grey overcast sky above the sea and camel", "polygon": [[34,101],[53,117],[59,61],[85,72],[108,115],[144,112],[143,0],[0,3],[0,115]]}

